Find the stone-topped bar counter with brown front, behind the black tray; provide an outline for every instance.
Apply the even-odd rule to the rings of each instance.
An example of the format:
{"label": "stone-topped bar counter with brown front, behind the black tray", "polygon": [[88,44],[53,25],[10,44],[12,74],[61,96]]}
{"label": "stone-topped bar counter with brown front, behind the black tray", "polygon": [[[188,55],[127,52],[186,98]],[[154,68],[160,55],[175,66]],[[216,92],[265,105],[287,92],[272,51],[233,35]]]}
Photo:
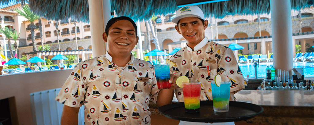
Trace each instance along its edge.
{"label": "stone-topped bar counter with brown front, behind the black tray", "polygon": [[[237,121],[236,125],[314,125],[314,91],[241,90],[235,97],[236,101],[253,103],[264,108],[263,113],[245,121]],[[177,102],[174,97],[172,103]],[[156,104],[150,102],[149,107],[152,115],[162,115]]]}

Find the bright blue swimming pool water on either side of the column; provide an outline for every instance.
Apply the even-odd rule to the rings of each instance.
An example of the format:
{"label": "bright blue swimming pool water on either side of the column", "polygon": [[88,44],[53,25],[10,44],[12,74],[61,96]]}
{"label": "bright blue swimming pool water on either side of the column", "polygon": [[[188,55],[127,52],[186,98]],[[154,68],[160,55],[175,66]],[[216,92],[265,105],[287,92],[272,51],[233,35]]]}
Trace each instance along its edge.
{"label": "bright blue swimming pool water on either side of the column", "polygon": [[[255,76],[255,68],[253,63],[245,63],[239,64],[243,77],[246,78],[246,75],[250,75],[250,78],[254,78]],[[259,63],[257,67],[257,77],[266,77],[266,67],[273,66],[273,63]],[[303,68],[304,77],[314,77],[314,63],[309,62],[300,62],[293,63],[294,68]]]}

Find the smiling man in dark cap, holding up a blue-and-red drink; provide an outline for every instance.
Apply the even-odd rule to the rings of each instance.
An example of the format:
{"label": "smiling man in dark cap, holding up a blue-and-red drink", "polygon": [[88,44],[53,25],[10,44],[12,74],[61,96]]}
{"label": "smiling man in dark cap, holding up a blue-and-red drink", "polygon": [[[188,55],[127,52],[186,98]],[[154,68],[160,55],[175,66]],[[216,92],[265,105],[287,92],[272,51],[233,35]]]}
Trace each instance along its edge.
{"label": "smiling man in dark cap, holding up a blue-and-red drink", "polygon": [[61,124],[77,125],[82,105],[86,125],[150,124],[149,100],[159,106],[171,103],[176,84],[159,90],[154,67],[133,57],[138,36],[131,18],[110,19],[103,40],[107,53],[78,63],[56,97],[64,104]]}

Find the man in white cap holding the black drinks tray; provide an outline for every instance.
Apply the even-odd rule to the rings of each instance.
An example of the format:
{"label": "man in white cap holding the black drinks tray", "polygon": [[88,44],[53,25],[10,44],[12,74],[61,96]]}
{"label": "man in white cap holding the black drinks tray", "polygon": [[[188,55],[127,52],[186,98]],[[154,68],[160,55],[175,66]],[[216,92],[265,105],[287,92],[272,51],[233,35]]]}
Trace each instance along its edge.
{"label": "man in white cap holding the black drinks tray", "polygon": [[[176,63],[171,68],[176,77],[186,76],[190,81],[201,82],[201,100],[212,100],[211,81],[219,74],[223,81],[231,81],[230,101],[234,94],[247,87],[232,50],[224,45],[208,41],[205,29],[208,20],[198,6],[185,6],[176,11],[171,20],[176,31],[187,41],[187,46],[173,54],[170,60]],[[184,102],[182,88],[175,89],[176,98]],[[193,123],[180,121],[179,125],[234,125],[229,123]]]}

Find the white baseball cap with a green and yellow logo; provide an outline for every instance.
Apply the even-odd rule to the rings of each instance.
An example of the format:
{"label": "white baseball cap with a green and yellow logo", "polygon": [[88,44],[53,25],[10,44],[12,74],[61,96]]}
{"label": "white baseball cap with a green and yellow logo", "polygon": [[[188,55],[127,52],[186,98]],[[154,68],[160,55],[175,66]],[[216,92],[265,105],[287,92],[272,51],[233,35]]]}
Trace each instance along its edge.
{"label": "white baseball cap with a green and yellow logo", "polygon": [[185,17],[198,17],[205,20],[203,11],[198,6],[185,6],[176,11],[176,17],[171,22],[178,23],[178,21]]}

